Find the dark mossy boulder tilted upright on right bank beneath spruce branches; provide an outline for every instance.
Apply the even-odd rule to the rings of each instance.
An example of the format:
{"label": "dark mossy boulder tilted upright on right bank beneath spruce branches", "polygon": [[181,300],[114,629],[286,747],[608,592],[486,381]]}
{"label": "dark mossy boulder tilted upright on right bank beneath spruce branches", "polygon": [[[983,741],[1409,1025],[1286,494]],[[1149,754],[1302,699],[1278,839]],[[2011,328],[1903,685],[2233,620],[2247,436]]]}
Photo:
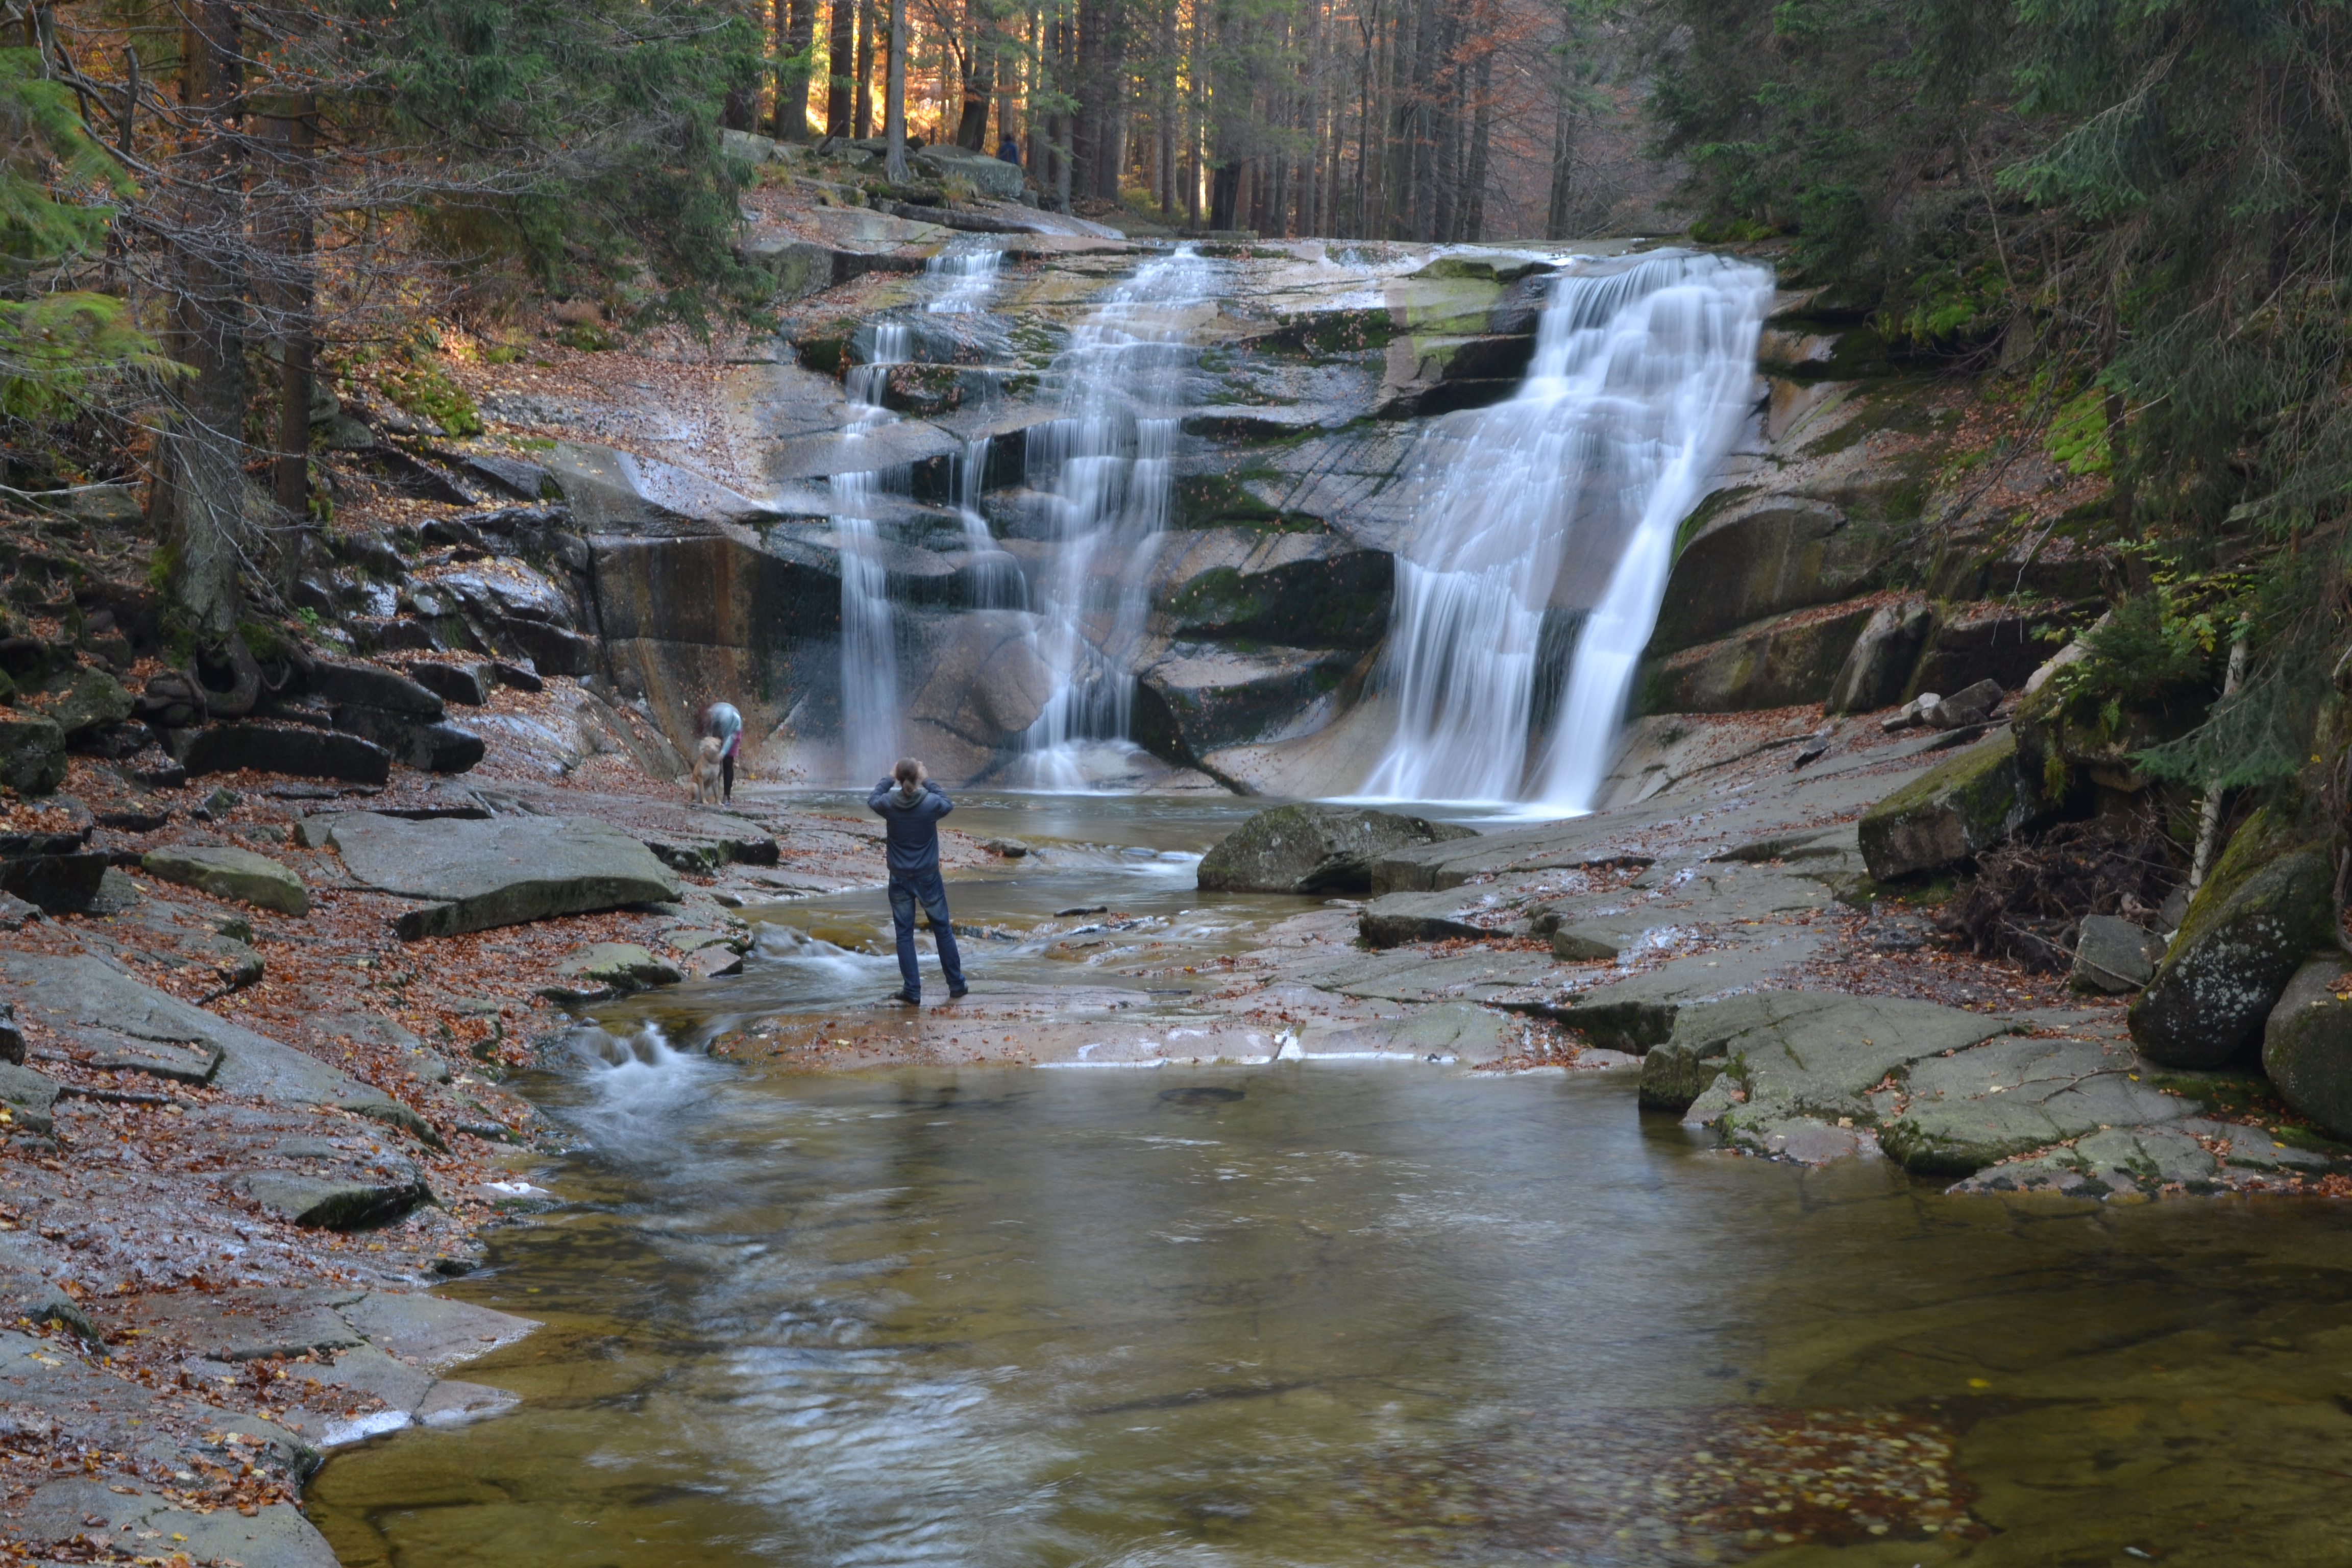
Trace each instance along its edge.
{"label": "dark mossy boulder tilted upright on right bank beneath spruce branches", "polygon": [[2131,1004],[2131,1037],[2164,1067],[2246,1053],[2305,954],[2328,943],[2333,875],[2272,811],[2256,811],[2197,889],[2164,961]]}

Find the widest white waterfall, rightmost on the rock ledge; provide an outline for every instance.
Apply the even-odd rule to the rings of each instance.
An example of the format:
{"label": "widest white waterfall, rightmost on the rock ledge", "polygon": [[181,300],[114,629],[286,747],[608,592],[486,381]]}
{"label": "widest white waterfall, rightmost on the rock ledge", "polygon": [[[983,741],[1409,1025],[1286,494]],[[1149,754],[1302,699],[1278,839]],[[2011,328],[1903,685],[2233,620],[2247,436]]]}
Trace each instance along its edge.
{"label": "widest white waterfall, rightmost on the rock ledge", "polygon": [[[1519,393],[1421,437],[1376,672],[1397,733],[1364,795],[1590,804],[1675,529],[1752,407],[1769,299],[1771,273],[1722,256],[1566,273]],[[1545,611],[1585,607],[1536,757]]]}

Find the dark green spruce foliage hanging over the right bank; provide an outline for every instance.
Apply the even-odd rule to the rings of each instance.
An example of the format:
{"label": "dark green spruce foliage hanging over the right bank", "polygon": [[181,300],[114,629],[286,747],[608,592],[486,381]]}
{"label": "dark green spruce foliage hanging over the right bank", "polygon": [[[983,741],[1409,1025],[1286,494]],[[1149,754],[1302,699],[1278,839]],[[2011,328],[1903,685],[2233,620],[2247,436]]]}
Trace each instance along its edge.
{"label": "dark green spruce foliage hanging over the right bank", "polygon": [[[2338,0],[1653,0],[1717,223],[1962,367],[2027,350],[2114,529],[2251,564],[2253,665],[2145,762],[2284,778],[2345,639],[2352,9]],[[2082,393],[2079,397],[2074,393]],[[2096,393],[2096,395],[2093,395]],[[2105,411],[2105,444],[2084,418]]]}

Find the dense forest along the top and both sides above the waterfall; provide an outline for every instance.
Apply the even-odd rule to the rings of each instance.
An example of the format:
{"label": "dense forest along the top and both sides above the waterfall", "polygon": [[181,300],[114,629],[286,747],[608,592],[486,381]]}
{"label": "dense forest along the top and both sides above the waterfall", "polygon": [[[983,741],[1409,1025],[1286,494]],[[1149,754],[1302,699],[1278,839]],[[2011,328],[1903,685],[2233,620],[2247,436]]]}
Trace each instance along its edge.
{"label": "dense forest along the top and both sides above the waterfall", "polygon": [[2340,0],[19,0],[0,480],[146,480],[186,639],[233,649],[240,585],[315,522],[322,364],[520,301],[755,322],[722,129],[873,136],[896,99],[1075,212],[1759,249],[2110,475],[2107,668],[2244,670],[2154,764],[2279,778],[2343,642],[2345,28]]}

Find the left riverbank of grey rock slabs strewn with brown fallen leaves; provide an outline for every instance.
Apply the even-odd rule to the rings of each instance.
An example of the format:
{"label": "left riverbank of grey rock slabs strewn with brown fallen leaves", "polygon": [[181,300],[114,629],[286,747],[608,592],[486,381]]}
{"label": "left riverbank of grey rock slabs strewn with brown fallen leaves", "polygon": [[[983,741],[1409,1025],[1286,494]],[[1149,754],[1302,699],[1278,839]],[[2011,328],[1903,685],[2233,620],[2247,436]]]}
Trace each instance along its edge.
{"label": "left riverbank of grey rock slabs strewn with brown fallen leaves", "polygon": [[423,1293],[541,1197],[501,1081],[567,1009],[739,969],[741,905],[880,879],[868,823],[548,783],[482,731],[463,778],[75,755],[9,806],[7,865],[54,865],[0,917],[7,1549],[332,1563],[294,1502],[325,1448],[508,1401],[442,1373],[529,1324]]}

